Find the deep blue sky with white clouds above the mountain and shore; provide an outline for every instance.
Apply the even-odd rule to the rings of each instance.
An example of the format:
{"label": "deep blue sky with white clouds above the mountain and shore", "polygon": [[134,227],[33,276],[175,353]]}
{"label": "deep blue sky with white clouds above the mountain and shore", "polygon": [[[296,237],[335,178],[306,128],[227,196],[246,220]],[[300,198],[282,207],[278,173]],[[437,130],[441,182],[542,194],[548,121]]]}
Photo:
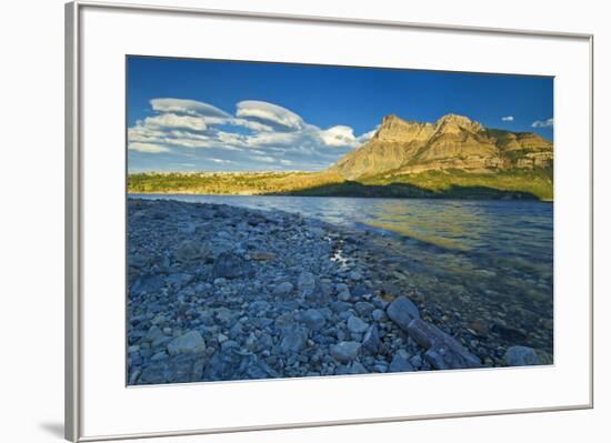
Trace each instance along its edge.
{"label": "deep blue sky with white clouds above the mountain and shore", "polygon": [[391,113],[553,139],[551,78],[144,57],[127,68],[130,172],[321,170]]}

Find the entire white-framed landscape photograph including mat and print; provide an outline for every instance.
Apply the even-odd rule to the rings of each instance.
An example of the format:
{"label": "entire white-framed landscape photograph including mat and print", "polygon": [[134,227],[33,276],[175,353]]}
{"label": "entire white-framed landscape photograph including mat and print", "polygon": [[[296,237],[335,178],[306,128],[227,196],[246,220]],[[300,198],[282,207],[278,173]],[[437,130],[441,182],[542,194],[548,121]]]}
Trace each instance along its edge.
{"label": "entire white-framed landscape photograph including mat and print", "polygon": [[592,407],[592,36],[66,12],[68,440]]}

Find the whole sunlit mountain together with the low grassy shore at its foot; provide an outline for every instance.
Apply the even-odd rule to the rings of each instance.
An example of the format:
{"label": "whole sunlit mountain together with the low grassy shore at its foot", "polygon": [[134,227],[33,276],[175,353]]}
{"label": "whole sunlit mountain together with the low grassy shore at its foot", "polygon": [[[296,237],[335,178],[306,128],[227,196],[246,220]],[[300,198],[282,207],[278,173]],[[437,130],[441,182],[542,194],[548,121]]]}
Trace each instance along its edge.
{"label": "whole sunlit mountain together with the low grassy shore at its foot", "polygon": [[463,115],[383,119],[367,143],[319,172],[138,173],[129,192],[553,200],[553,144]]}

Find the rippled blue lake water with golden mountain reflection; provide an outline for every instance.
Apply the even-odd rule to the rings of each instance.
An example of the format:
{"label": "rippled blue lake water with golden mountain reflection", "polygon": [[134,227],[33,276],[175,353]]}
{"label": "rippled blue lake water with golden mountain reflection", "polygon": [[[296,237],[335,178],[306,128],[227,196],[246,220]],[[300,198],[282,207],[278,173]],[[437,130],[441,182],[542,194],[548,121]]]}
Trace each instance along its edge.
{"label": "rippled blue lake water with golden mountain reflection", "polygon": [[[136,195],[134,195],[136,197]],[[373,230],[394,278],[449,324],[552,352],[553,204],[317,197],[138,195],[300,212]],[[475,324],[475,325],[474,325]]]}

